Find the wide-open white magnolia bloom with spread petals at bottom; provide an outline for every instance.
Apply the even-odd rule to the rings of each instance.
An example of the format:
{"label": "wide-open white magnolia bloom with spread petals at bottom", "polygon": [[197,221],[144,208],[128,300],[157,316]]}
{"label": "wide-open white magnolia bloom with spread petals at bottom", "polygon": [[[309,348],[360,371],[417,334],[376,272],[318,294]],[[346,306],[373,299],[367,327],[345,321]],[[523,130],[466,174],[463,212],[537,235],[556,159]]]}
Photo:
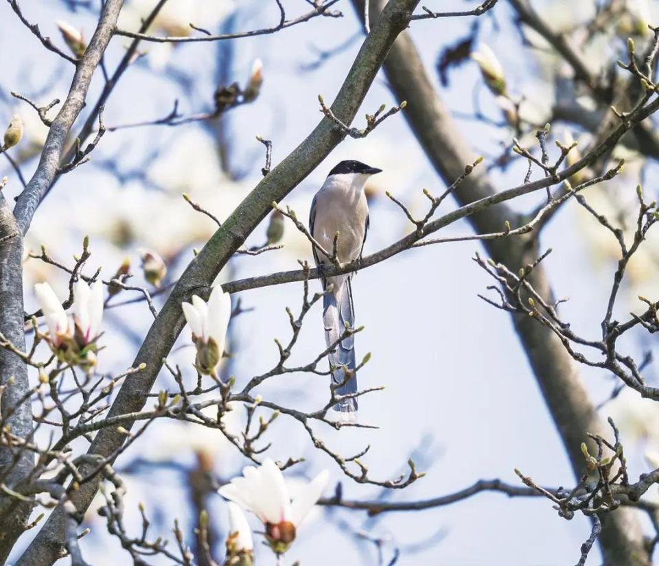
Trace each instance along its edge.
{"label": "wide-open white magnolia bloom with spread petals at bottom", "polygon": [[291,501],[284,475],[273,460],[266,458],[258,468],[245,467],[242,477],[234,477],[218,493],[253,512],[264,524],[270,547],[282,554],[294,541],[304,517],[320,499],[327,480],[329,473],[322,471]]}

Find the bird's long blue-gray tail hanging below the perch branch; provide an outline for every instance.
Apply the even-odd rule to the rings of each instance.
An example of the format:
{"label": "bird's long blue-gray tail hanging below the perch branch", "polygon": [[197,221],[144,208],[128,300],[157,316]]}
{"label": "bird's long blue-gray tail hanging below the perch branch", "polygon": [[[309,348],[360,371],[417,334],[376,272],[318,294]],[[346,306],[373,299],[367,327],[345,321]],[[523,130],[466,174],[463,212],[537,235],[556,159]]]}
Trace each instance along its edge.
{"label": "bird's long blue-gray tail hanging below the perch branch", "polygon": [[[325,340],[327,347],[336,344],[336,341],[345,332],[346,327],[354,328],[355,309],[352,303],[352,289],[350,279],[345,279],[340,290],[329,291],[323,300],[323,324],[325,325]],[[332,371],[332,383],[343,384],[345,381],[345,368],[353,372],[351,378],[336,389],[336,394],[346,395],[357,392],[357,373],[355,363],[355,337],[346,336],[340,344],[336,345],[334,351],[329,353],[329,364]],[[345,366],[345,367],[344,367]],[[334,405],[335,411],[355,412],[357,410],[357,398],[342,399]]]}

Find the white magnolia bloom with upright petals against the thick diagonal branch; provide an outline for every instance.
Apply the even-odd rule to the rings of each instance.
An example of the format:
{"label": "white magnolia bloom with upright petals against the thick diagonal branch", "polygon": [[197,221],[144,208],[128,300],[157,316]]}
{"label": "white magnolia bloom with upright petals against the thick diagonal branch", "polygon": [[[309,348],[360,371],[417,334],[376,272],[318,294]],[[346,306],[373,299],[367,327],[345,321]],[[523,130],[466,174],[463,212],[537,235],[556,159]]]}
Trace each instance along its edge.
{"label": "white magnolia bloom with upright petals against the thick diagonal branch", "polygon": [[192,303],[181,303],[181,307],[192,330],[192,341],[197,347],[199,373],[216,375],[231,318],[231,296],[217,285],[213,287],[208,303],[193,295]]}

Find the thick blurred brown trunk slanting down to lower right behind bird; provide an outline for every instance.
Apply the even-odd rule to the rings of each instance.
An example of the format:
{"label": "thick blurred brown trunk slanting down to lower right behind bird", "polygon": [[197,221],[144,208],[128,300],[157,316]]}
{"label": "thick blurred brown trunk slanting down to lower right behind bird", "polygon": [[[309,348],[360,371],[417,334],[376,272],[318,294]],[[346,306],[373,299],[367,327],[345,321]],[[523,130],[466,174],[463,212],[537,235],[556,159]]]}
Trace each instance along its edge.
{"label": "thick blurred brown trunk slanting down to lower right behind bird", "polygon": [[[358,13],[361,13],[360,0],[353,1]],[[373,10],[373,5],[371,14],[378,14],[378,10]],[[450,183],[459,175],[460,164],[471,163],[475,156],[435,93],[408,34],[399,36],[389,52],[384,69],[397,99],[408,100],[404,116],[421,147],[440,176],[447,184]],[[607,139],[608,143],[612,144],[611,147],[623,133],[619,126],[614,130],[614,134]],[[602,145],[600,150],[603,150]],[[605,151],[599,150],[593,152],[593,161],[597,161],[604,153]],[[571,167],[564,169],[564,172],[569,169]],[[550,178],[546,177],[535,183],[543,184]],[[483,198],[496,198],[496,187],[485,175],[475,174],[465,180],[455,197],[464,207]],[[505,220],[513,217],[507,207],[489,207],[471,215],[470,222],[477,232],[496,232]],[[529,245],[522,237],[513,240],[489,240],[485,242],[485,247],[495,261],[509,266],[513,272],[531,263],[532,257],[537,257],[534,246]],[[534,270],[534,287],[542,289],[543,296],[551,296],[551,289],[542,268]],[[583,438],[586,438],[586,431],[601,432],[603,423],[581,385],[572,358],[564,351],[560,340],[548,329],[535,324],[529,316],[514,316],[513,322],[578,477],[583,464],[580,446]],[[643,532],[636,517],[628,510],[618,510],[605,517],[602,522],[600,542],[606,563],[619,566],[649,563],[647,551],[643,546]]]}

